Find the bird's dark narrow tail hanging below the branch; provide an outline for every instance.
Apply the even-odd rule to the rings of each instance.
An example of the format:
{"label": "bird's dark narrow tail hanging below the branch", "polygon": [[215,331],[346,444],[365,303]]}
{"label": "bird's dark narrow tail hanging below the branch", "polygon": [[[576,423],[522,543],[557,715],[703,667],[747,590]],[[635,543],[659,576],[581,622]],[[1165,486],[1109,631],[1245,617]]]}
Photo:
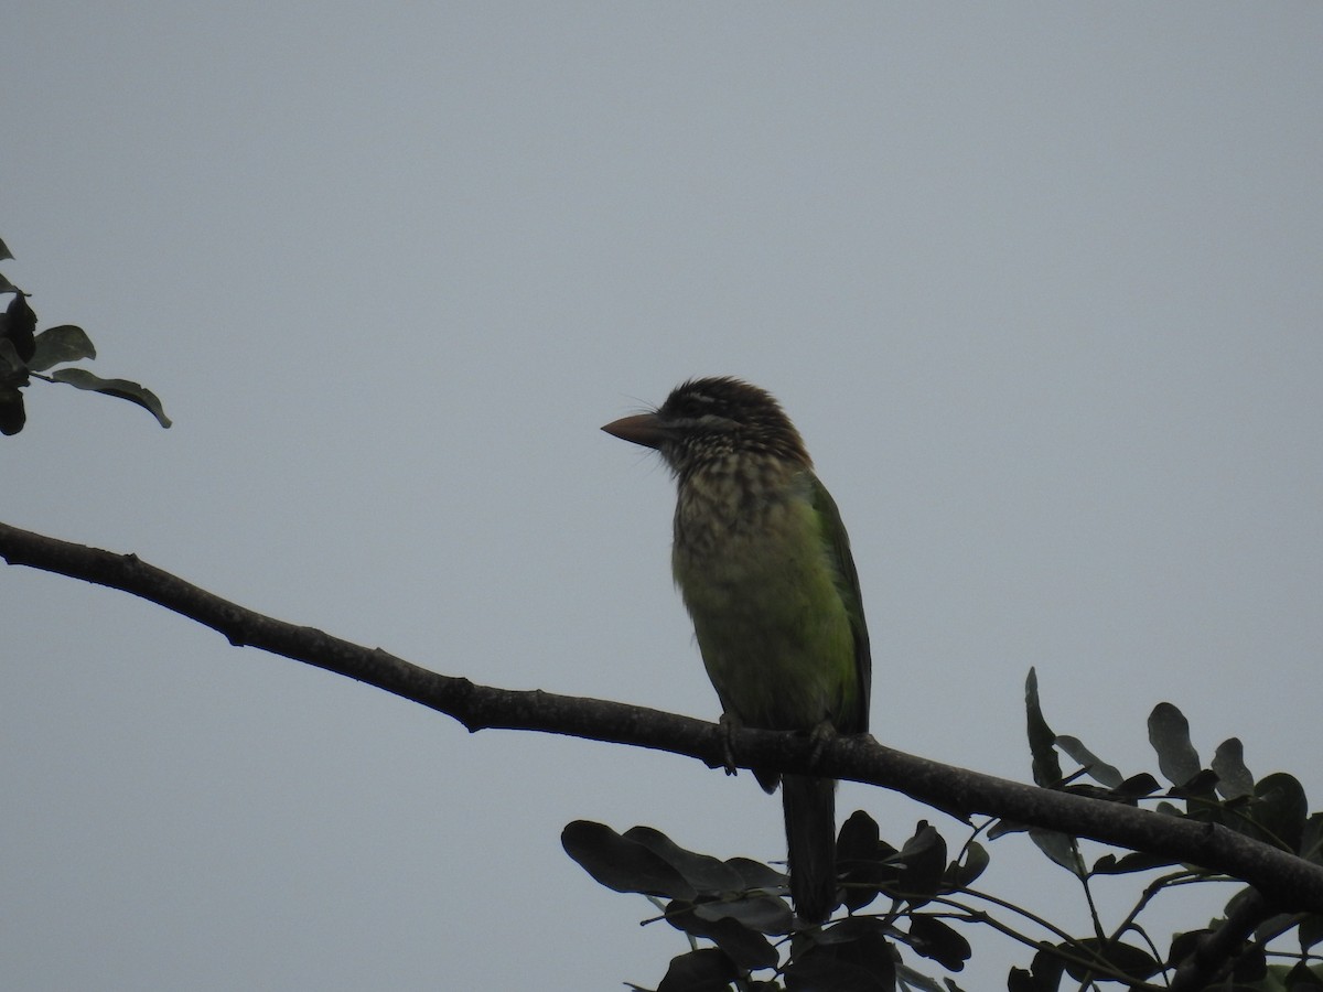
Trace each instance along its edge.
{"label": "bird's dark narrow tail hanging below the branch", "polygon": [[836,780],[786,775],[781,784],[795,914],[822,923],[836,909]]}

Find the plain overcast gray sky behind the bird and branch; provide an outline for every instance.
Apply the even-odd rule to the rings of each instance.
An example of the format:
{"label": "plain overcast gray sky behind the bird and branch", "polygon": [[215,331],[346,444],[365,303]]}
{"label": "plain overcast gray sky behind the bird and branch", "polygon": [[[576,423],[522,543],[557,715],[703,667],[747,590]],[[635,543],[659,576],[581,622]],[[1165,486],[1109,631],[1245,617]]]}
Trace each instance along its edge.
{"label": "plain overcast gray sky behind the bird and branch", "polygon": [[[1127,772],[1170,700],[1320,806],[1323,8],[11,8],[0,271],[176,426],[34,386],[5,521],[714,718],[669,479],[598,426],[740,374],[849,526],[882,742],[1025,779],[1036,665]],[[5,987],[650,984],[683,939],[565,823],[783,856],[750,776],[468,735],[29,570],[0,623]],[[1077,918],[1027,847],[1002,894]]]}

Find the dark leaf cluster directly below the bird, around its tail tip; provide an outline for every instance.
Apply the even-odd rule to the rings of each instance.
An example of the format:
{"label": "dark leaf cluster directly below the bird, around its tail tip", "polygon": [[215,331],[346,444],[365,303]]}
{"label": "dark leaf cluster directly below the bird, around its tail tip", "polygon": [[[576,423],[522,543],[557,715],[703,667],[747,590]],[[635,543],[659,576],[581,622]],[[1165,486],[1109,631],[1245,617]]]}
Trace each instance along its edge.
{"label": "dark leaf cluster directly below the bird, around its tail tip", "polygon": [[[827,926],[802,926],[790,909],[789,878],[761,861],[718,860],[687,850],[651,827],[617,833],[599,823],[577,820],[561,844],[598,882],[617,891],[642,893],[683,931],[691,950],[671,962],[658,992],[781,988],[792,992],[877,988],[955,991],[901,963],[897,946],[958,972],[970,944],[945,922],[943,907],[925,910],[971,884],[987,866],[979,844],[947,861],[946,841],[926,821],[900,848],[881,840],[877,823],[863,811],[841,827],[837,869],[849,913]],[[878,898],[889,909],[860,910]],[[713,947],[700,947],[699,939]],[[789,948],[781,962],[778,944]],[[754,979],[754,972],[774,977]]]}

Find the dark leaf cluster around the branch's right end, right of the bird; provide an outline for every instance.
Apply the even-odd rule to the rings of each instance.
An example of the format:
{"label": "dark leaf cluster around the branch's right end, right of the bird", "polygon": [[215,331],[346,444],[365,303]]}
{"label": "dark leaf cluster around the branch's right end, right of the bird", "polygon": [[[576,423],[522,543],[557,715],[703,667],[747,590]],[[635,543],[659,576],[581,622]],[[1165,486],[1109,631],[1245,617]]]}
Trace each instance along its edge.
{"label": "dark leaf cluster around the branch's right end, right of the bird", "polygon": [[[1256,779],[1245,765],[1238,738],[1224,741],[1205,765],[1189,735],[1189,721],[1171,702],[1159,702],[1148,716],[1148,742],[1158,759],[1164,788],[1150,772],[1123,775],[1098,758],[1077,737],[1054,734],[1039,702],[1037,680],[1029,672],[1025,686],[1029,749],[1035,782],[1105,802],[1136,806],[1154,800],[1156,811],[1234,831],[1259,844],[1278,848],[1302,861],[1323,864],[1323,812],[1308,812],[1299,780],[1286,772]],[[1057,750],[1080,766],[1062,775]],[[1093,783],[1084,782],[1088,776]],[[1094,784],[1095,783],[1095,784]],[[1015,832],[1015,824],[999,823],[990,836]],[[1136,850],[1122,856],[1103,853],[1086,864],[1078,839],[1045,829],[1029,829],[1031,840],[1056,865],[1080,881],[1093,914],[1095,935],[1058,942],[1035,958],[1029,971],[1012,972],[1012,992],[1056,989],[1060,972],[1077,981],[1091,981],[1099,968],[1135,988],[1156,977],[1184,981],[1188,988],[1323,989],[1323,968],[1312,948],[1323,943],[1323,914],[1277,913],[1259,893],[1241,889],[1228,901],[1225,914],[1207,926],[1177,932],[1166,954],[1139,923],[1139,914],[1163,891],[1200,882],[1236,881],[1193,864]],[[1150,882],[1121,925],[1105,932],[1090,891],[1093,880],[1105,876],[1168,870]],[[1283,950],[1295,935],[1298,950]],[[1275,943],[1274,943],[1275,942]],[[1213,952],[1216,951],[1216,952]],[[1269,964],[1271,956],[1289,964]],[[1056,958],[1057,963],[1049,963]],[[1196,977],[1189,977],[1196,976]]]}

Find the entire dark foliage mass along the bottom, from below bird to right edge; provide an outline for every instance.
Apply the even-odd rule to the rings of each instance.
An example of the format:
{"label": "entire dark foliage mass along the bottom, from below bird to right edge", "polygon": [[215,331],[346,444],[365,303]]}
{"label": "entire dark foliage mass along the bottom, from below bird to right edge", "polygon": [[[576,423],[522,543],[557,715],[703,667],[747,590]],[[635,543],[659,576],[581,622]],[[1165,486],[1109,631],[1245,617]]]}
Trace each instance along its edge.
{"label": "entire dark foliage mass along the bottom, from below bird to right edge", "polygon": [[[1151,772],[1122,774],[1077,737],[1056,734],[1044,718],[1033,672],[1025,692],[1035,782],[1099,803],[1152,802],[1167,816],[1224,827],[1263,845],[1323,864],[1323,813],[1308,813],[1299,782],[1282,772],[1256,779],[1244,749],[1232,738],[1208,763],[1189,738],[1189,725],[1171,704],[1148,718],[1148,738],[1164,787]],[[1080,768],[1066,775],[1061,755]],[[1085,780],[1090,779],[1090,780]],[[1195,884],[1234,881],[1193,864],[1143,850],[1086,857],[1080,839],[1005,820],[974,825],[954,857],[925,820],[898,845],[882,840],[877,823],[856,811],[841,825],[836,872],[844,915],[804,926],[789,905],[785,873],[762,862],[687,850],[660,831],[576,821],[561,841],[566,853],[602,885],[642,893],[662,919],[685,934],[689,951],[671,960],[656,992],[718,989],[923,989],[958,992],[951,975],[971,958],[964,927],[991,927],[1032,951],[1028,967],[1012,968],[1009,992],[1057,992],[1102,984],[1135,989],[1323,989],[1323,914],[1274,910],[1242,888],[1224,915],[1175,934],[1160,950],[1140,914],[1163,893]],[[1090,931],[1073,935],[1013,902],[980,891],[975,882],[990,864],[988,847],[1028,835],[1053,864],[1081,886]],[[1105,923],[1094,888],[1103,878],[1148,880],[1119,921]],[[1156,877],[1154,877],[1156,874]],[[1114,882],[1113,882],[1114,884]],[[1294,939],[1291,939],[1294,936]],[[908,954],[906,954],[908,952]],[[945,968],[941,980],[906,959]],[[639,988],[639,987],[634,987]]]}

